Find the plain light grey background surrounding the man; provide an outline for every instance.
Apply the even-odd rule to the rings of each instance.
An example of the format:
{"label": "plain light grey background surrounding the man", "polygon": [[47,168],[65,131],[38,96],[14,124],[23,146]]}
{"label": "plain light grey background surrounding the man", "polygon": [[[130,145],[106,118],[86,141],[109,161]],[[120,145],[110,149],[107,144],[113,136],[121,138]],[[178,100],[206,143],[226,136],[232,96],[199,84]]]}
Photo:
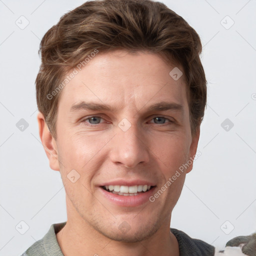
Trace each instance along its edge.
{"label": "plain light grey background surrounding the man", "polygon": [[[60,175],[49,168],[38,136],[34,80],[43,34],[82,2],[0,0],[0,255],[20,255],[66,220]],[[256,0],[163,2],[200,35],[208,81],[201,156],[171,227],[222,248],[256,230]],[[29,21],[24,29],[15,24],[21,15]],[[229,29],[226,15],[234,21]],[[29,124],[23,131],[16,127],[21,118]],[[234,124],[228,131],[221,127],[226,118]],[[29,226],[24,234],[21,220]]]}

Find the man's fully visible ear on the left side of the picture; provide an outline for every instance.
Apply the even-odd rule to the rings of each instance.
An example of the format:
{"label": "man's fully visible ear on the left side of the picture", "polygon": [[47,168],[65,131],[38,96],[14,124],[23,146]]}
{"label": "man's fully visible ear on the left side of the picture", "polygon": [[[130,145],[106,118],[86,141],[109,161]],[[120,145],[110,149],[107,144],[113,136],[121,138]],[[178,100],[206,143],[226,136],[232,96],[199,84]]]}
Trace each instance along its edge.
{"label": "man's fully visible ear on the left side of the picture", "polygon": [[39,136],[45,153],[49,159],[50,168],[53,170],[59,170],[56,142],[55,139],[52,137],[45,122],[44,116],[41,112],[37,114],[37,122],[39,127]]}

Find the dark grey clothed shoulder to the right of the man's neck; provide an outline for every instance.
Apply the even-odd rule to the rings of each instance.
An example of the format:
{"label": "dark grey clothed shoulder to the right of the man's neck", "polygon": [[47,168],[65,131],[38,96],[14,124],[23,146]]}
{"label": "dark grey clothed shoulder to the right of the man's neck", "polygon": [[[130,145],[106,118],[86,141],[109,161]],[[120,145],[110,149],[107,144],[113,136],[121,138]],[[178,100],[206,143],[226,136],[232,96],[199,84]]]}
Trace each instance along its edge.
{"label": "dark grey clothed shoulder to the right of the man's neck", "polygon": [[213,256],[215,247],[200,239],[191,238],[185,232],[176,228],[170,228],[170,231],[175,235],[180,256]]}

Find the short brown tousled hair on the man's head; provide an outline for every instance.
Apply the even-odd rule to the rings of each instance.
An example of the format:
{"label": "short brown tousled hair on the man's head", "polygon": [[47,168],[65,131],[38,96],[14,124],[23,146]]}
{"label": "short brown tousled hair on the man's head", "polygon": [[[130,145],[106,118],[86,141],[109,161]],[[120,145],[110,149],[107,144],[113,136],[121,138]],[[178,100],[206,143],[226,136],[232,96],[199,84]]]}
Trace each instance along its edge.
{"label": "short brown tousled hair on the man's head", "polygon": [[191,134],[195,134],[206,104],[206,79],[199,58],[202,46],[196,31],[161,2],[89,0],[61,16],[40,43],[36,101],[53,137],[60,94],[56,89],[63,87],[60,84],[64,75],[95,49],[146,50],[181,65]]}

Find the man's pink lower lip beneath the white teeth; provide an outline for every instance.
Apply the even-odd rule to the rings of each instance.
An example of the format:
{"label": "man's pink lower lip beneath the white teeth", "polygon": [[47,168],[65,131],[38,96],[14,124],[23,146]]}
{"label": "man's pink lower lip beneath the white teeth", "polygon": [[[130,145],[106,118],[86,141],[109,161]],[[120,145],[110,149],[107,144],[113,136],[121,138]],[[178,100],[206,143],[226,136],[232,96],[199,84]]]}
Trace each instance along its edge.
{"label": "man's pink lower lip beneath the white teeth", "polygon": [[100,187],[100,191],[102,192],[104,197],[106,197],[109,201],[119,206],[125,207],[135,207],[146,202],[150,202],[149,197],[153,194],[154,189],[155,186],[152,187],[150,190],[143,193],[139,193],[137,195],[119,195],[107,192],[105,189]]}

